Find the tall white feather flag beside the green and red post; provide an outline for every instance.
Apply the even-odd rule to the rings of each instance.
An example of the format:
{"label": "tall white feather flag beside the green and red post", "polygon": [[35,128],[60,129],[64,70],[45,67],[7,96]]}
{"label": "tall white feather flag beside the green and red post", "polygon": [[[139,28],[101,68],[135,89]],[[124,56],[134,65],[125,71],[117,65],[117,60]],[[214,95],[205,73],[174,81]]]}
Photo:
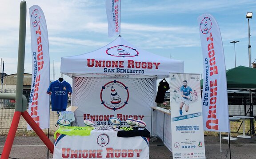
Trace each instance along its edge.
{"label": "tall white feather flag beside the green and red post", "polygon": [[[48,32],[42,9],[33,5],[29,8],[31,49],[32,49],[32,83],[29,97],[28,113],[41,129],[49,128],[50,85]],[[28,130],[31,127],[28,125]]]}

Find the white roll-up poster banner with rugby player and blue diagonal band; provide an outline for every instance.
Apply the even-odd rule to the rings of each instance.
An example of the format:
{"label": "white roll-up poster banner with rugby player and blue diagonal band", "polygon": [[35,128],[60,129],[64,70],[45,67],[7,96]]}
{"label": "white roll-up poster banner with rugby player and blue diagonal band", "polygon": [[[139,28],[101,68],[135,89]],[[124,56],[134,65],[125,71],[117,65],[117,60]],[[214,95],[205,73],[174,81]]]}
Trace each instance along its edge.
{"label": "white roll-up poster banner with rugby player and blue diagonal band", "polygon": [[200,74],[170,73],[174,159],[205,159]]}

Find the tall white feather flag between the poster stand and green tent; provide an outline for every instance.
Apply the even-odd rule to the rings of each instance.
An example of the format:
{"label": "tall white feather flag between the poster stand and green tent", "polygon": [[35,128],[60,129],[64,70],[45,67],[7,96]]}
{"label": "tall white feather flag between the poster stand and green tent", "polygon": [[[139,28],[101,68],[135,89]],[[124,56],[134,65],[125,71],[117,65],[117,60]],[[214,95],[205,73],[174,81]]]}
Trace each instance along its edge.
{"label": "tall white feather flag between the poster stand and green tent", "polygon": [[204,61],[202,110],[205,131],[230,132],[224,51],[220,28],[215,18],[197,18]]}

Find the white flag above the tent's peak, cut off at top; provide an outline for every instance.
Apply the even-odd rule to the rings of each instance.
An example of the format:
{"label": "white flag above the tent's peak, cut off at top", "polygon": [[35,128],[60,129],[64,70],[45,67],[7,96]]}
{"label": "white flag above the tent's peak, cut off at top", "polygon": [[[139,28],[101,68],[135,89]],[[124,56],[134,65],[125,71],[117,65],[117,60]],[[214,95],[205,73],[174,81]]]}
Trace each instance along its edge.
{"label": "white flag above the tent's peak, cut off at top", "polygon": [[106,0],[108,36],[120,35],[120,0]]}

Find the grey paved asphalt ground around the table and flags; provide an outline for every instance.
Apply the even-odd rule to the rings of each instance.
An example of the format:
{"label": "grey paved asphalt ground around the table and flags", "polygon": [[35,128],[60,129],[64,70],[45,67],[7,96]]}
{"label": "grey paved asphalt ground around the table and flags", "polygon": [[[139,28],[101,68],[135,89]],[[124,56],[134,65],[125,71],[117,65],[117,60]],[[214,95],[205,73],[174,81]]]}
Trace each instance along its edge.
{"label": "grey paved asphalt ground around the table and flags", "polygon": [[[53,142],[53,137],[50,139]],[[3,151],[5,140],[6,136],[0,136],[0,153]],[[204,140],[207,159],[230,159],[228,140],[221,140],[222,152],[220,152],[219,137],[204,136]],[[230,143],[231,159],[256,159],[256,136],[252,136],[250,139],[239,138]],[[150,143],[150,159],[172,159],[172,152],[161,145],[162,142],[159,139]],[[16,136],[9,157],[13,159],[47,159],[47,147],[37,136]],[[49,159],[52,159],[50,153]]]}

